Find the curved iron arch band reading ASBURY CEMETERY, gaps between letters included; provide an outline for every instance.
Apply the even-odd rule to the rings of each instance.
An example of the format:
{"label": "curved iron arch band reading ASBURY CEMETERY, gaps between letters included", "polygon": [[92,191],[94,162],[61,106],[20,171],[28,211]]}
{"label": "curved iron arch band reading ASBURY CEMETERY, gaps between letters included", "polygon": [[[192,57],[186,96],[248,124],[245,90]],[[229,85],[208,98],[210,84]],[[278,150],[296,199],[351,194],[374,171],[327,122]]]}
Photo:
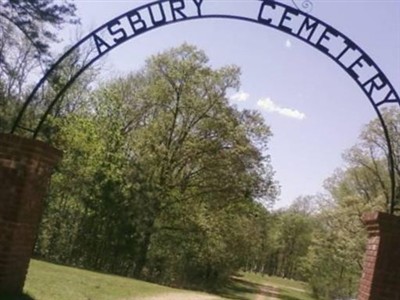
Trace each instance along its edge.
{"label": "curved iron arch band reading ASBURY CEMETERY, gaps between letters included", "polygon": [[[293,0],[292,0],[293,1]],[[65,52],[44,74],[23,104],[13,124],[11,133],[18,128],[30,131],[33,138],[40,132],[43,123],[74,81],[93,63],[112,49],[141,34],[164,25],[196,19],[233,19],[271,27],[309,44],[335,61],[361,88],[373,106],[383,128],[388,145],[389,171],[391,180],[391,203],[389,211],[395,210],[396,178],[393,148],[388,128],[383,118],[383,108],[390,104],[400,106],[400,98],[377,64],[351,39],[327,23],[300,10],[299,6],[288,6],[275,0],[249,1],[249,12],[213,12],[212,1],[207,0],[159,0],[134,8],[103,24],[89,33]],[[309,0],[305,0],[309,4]],[[306,7],[309,7],[306,5]],[[24,114],[38,97],[39,90],[56,73],[57,68],[75,51],[91,47],[94,51],[85,64],[71,76],[50,102],[34,128],[22,125]]]}

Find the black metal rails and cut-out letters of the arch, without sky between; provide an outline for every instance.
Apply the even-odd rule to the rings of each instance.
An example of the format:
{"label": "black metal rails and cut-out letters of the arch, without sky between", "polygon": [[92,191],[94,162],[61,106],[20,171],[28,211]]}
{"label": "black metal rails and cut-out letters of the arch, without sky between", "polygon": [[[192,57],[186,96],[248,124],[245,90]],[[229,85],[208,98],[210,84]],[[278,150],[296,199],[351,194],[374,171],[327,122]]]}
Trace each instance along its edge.
{"label": "black metal rails and cut-out letters of the arch, without sky between", "polygon": [[[293,0],[292,0],[293,1]],[[252,22],[252,23],[256,23],[256,24],[260,24],[260,25],[264,25],[267,27],[272,27],[274,29],[277,29],[279,31],[282,31],[284,33],[287,33],[297,39],[302,40],[303,42],[311,45],[312,47],[316,48],[317,50],[319,50],[320,52],[324,53],[325,55],[327,55],[328,57],[330,57],[333,61],[335,61],[356,83],[357,85],[363,90],[364,94],[367,96],[367,98],[369,99],[371,105],[373,106],[375,112],[378,115],[378,118],[382,124],[382,128],[384,131],[384,135],[385,135],[385,139],[387,141],[387,145],[388,145],[388,163],[389,163],[389,172],[390,172],[390,180],[391,180],[391,195],[392,195],[392,199],[390,204],[388,204],[388,210],[393,213],[394,209],[395,209],[395,194],[396,194],[396,180],[395,180],[395,166],[394,166],[394,158],[393,158],[393,147],[392,147],[392,143],[390,140],[390,135],[389,135],[389,131],[388,128],[386,126],[385,120],[382,116],[382,112],[380,110],[380,107],[384,104],[389,104],[389,103],[397,103],[400,106],[400,98],[399,95],[397,94],[397,92],[395,91],[395,89],[393,88],[393,85],[390,83],[390,81],[388,80],[388,78],[386,77],[386,75],[384,75],[384,73],[381,71],[381,69],[379,68],[378,65],[376,65],[373,60],[360,48],[358,47],[351,39],[349,39],[346,35],[340,33],[339,31],[337,31],[336,29],[334,29],[332,26],[328,25],[327,23],[319,20],[318,18],[315,18],[311,15],[309,15],[308,13],[306,13],[305,11],[302,11],[299,9],[299,7],[296,5],[296,3],[293,1],[294,5],[296,6],[296,8],[293,8],[291,6],[288,6],[286,4],[274,1],[274,0],[263,0],[263,1],[257,1],[254,0],[253,4],[256,5],[260,5],[260,9],[258,11],[258,16],[246,16],[246,15],[233,15],[233,14],[206,14],[203,15],[202,14],[202,5],[204,4],[204,0],[192,0],[192,2],[194,2],[196,8],[197,8],[197,14],[191,15],[191,16],[187,16],[185,15],[186,12],[182,12],[182,10],[185,8],[185,4],[189,2],[189,0],[159,0],[159,1],[154,1],[145,5],[142,5],[140,7],[134,8],[112,20],[110,20],[109,22],[103,24],[102,26],[100,26],[99,28],[97,28],[96,30],[92,31],[91,33],[89,33],[87,36],[85,36],[82,40],[80,40],[77,44],[75,44],[73,47],[71,47],[64,55],[62,55],[52,66],[51,68],[44,74],[44,76],[40,79],[40,81],[37,83],[37,85],[34,87],[34,89],[32,90],[31,94],[28,96],[27,100],[25,101],[25,103],[23,104],[23,107],[21,108],[21,110],[19,111],[19,114],[13,124],[11,133],[15,133],[17,128],[22,128],[22,129],[26,129],[23,128],[22,126],[20,126],[20,123],[22,121],[22,118],[24,116],[24,113],[26,111],[26,109],[28,108],[28,106],[32,103],[32,101],[35,99],[35,96],[38,92],[38,90],[44,86],[44,84],[46,83],[46,81],[48,80],[48,78],[52,75],[52,73],[57,69],[57,67],[63,63],[66,58],[68,58],[75,50],[77,50],[81,45],[84,45],[86,42],[94,42],[94,44],[97,47],[98,50],[98,54],[96,56],[94,56],[91,60],[89,60],[89,62],[85,65],[82,66],[82,68],[80,70],[78,70],[71,78],[70,80],[65,84],[65,86],[57,93],[57,95],[55,96],[55,98],[52,100],[52,102],[50,103],[50,105],[47,107],[46,111],[44,112],[44,114],[42,115],[42,117],[40,118],[40,121],[38,123],[38,125],[36,126],[35,129],[27,129],[31,132],[33,132],[33,138],[36,138],[38,133],[40,132],[43,123],[45,122],[47,116],[50,114],[51,110],[53,109],[53,107],[55,106],[55,104],[60,101],[60,99],[62,98],[62,96],[64,95],[64,93],[68,90],[68,88],[74,83],[74,81],[87,69],[89,68],[93,63],[95,63],[98,59],[100,59],[101,57],[103,57],[106,53],[108,53],[109,51],[111,51],[112,49],[114,49],[115,47],[125,43],[126,41],[133,39],[137,36],[140,36],[143,33],[146,33],[148,31],[151,31],[153,29],[162,27],[164,25],[169,25],[169,24],[173,24],[173,23],[178,23],[178,22],[183,22],[183,21],[190,21],[190,20],[196,20],[196,19],[212,19],[212,18],[217,18],[217,19],[232,19],[232,20],[240,20],[240,21],[246,21],[246,22]],[[309,0],[304,0],[303,3],[308,3]],[[250,2],[249,2],[250,3]],[[178,4],[178,6],[175,6],[175,4]],[[193,3],[192,3],[193,5]],[[161,17],[162,20],[158,20],[156,21],[154,16],[152,15],[152,8],[158,6],[160,9],[160,13],[161,13]],[[167,20],[166,14],[165,14],[165,9],[169,8],[170,11],[170,20]],[[289,15],[289,17],[296,17],[296,16],[301,16],[304,17],[305,20],[307,20],[307,22],[310,21],[310,23],[306,24],[306,21],[304,21],[303,25],[306,24],[306,29],[309,30],[311,29],[311,36],[314,35],[315,33],[315,28],[317,28],[318,26],[320,26],[321,28],[324,28],[324,31],[322,33],[322,35],[319,37],[318,42],[312,42],[310,36],[308,38],[304,37],[301,35],[301,29],[303,27],[300,28],[299,32],[294,32],[293,30],[290,30],[290,28],[288,28],[287,26],[284,25],[284,21],[285,21],[285,17],[281,17],[279,22],[273,22],[272,17],[269,16],[268,18],[264,18],[263,17],[263,9],[264,8],[268,8],[268,9],[272,9],[275,10],[277,8],[279,8],[280,10],[283,11],[283,14],[285,16]],[[306,8],[306,7],[303,7]],[[142,19],[141,16],[141,12],[142,11],[148,11],[150,13],[150,17],[152,18],[151,20],[153,21],[153,26],[147,27],[144,19]],[[131,20],[132,17],[135,17],[136,20],[134,21],[134,23],[132,23],[133,21]],[[121,20],[123,19],[128,19],[131,25],[131,30],[133,31],[133,34],[131,34],[130,36],[127,34],[127,32],[122,28],[117,28],[117,29],[113,29],[113,27],[115,27],[115,25],[121,25]],[[311,23],[311,21],[313,23]],[[141,23],[142,22],[142,23]],[[134,25],[137,24],[141,24],[144,26],[144,28],[139,28],[136,29]],[[317,24],[317,25],[315,25]],[[121,29],[122,28],[122,29]],[[114,44],[109,45],[108,42],[106,42],[105,40],[103,40],[103,38],[101,37],[101,33],[104,31],[107,31],[108,33],[111,34],[111,36],[114,35],[119,35],[119,37],[115,37],[114,36]],[[340,37],[341,39],[344,40],[344,42],[346,43],[346,45],[348,46],[347,49],[352,49],[352,50],[356,50],[359,52],[360,54],[360,58],[363,60],[363,62],[361,63],[360,58],[358,58],[351,67],[346,67],[344,65],[344,63],[342,63],[340,61],[341,56],[343,55],[343,53],[341,53],[341,55],[339,57],[334,56],[332,53],[330,53],[329,49],[327,49],[326,47],[324,48],[323,45],[321,45],[321,40],[323,40],[324,38],[329,40],[329,37],[327,37],[327,34],[330,34],[330,38],[332,37]],[[105,47],[106,49],[104,51],[101,50],[101,47]],[[346,50],[347,50],[346,49]],[[357,74],[355,74],[355,71],[353,70],[354,65],[356,64],[364,64],[368,65],[368,66],[372,66],[376,72],[377,72],[377,79],[379,79],[380,84],[375,81],[371,81],[370,84],[371,86],[369,88],[366,87],[365,83],[360,82],[357,77]],[[389,93],[386,95],[386,97],[384,99],[382,99],[381,101],[376,102],[374,97],[373,97],[373,90],[378,89],[380,90],[383,87],[388,87],[389,89]]]}

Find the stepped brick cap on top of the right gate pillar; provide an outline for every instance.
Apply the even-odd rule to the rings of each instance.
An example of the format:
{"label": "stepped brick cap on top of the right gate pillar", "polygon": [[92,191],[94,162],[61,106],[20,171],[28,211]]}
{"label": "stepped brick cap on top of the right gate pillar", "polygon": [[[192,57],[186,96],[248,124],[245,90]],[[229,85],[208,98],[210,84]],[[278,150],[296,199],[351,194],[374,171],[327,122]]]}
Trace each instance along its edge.
{"label": "stepped brick cap on top of the right gate pillar", "polygon": [[369,236],[399,234],[400,217],[384,212],[370,212],[362,216]]}

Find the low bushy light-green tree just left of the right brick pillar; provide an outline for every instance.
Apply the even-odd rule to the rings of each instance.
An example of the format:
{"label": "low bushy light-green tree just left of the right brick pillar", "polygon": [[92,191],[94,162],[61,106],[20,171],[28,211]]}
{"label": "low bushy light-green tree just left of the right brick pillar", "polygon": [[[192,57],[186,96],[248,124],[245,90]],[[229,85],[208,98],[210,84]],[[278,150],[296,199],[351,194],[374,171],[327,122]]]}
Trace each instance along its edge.
{"label": "low bushy light-green tree just left of the right brick pillar", "polygon": [[339,202],[320,197],[305,261],[308,281],[318,299],[350,298],[361,276],[366,236],[358,213],[366,207],[348,195]]}

